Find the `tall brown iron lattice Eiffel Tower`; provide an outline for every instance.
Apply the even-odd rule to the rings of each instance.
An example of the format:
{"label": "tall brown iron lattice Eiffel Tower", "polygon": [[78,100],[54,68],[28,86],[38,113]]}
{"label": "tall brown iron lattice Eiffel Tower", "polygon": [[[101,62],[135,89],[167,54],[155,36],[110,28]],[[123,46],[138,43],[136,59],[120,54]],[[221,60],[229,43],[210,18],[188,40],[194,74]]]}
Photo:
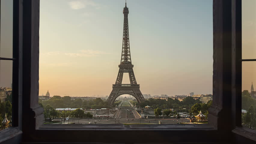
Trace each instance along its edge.
{"label": "tall brown iron lattice Eiffel Tower", "polygon": [[[129,28],[128,28],[128,7],[123,8],[123,47],[122,47],[122,56],[121,63],[118,65],[119,71],[117,74],[116,83],[113,85],[113,90],[111,91],[108,97],[108,103],[112,106],[115,102],[115,99],[123,94],[132,95],[136,98],[138,103],[145,101],[140,89],[139,84],[135,79],[135,75],[133,72],[133,64],[131,61],[130,54],[130,43],[129,43]],[[122,84],[123,73],[129,73],[130,84]]]}

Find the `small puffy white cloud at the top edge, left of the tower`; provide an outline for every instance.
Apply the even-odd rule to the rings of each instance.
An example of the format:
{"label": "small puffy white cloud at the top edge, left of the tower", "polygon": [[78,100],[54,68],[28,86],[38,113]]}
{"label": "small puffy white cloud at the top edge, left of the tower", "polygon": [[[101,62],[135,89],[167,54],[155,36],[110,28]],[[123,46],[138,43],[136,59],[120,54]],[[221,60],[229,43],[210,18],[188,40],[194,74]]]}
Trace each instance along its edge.
{"label": "small puffy white cloud at the top edge, left of the tower", "polygon": [[77,0],[77,1],[70,1],[69,6],[73,10],[79,10],[87,6],[95,7],[96,9],[100,9],[101,7],[99,4],[93,2],[92,0]]}

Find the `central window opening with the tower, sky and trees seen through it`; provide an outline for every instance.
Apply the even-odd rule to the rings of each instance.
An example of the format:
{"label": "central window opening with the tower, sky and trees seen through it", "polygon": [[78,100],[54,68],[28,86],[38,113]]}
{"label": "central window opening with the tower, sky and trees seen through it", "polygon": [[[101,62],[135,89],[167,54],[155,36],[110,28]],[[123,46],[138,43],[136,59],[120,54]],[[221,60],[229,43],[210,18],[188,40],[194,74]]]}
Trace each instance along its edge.
{"label": "central window opening with the tower, sky and trees seen through it", "polygon": [[213,25],[203,1],[40,1],[44,124],[206,124]]}

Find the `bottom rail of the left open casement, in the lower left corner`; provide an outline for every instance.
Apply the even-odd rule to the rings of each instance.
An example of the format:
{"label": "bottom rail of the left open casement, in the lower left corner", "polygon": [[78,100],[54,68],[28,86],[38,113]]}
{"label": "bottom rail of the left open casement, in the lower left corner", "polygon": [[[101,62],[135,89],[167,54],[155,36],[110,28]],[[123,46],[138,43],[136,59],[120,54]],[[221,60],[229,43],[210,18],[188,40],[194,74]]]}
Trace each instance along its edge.
{"label": "bottom rail of the left open casement, in the lower left corner", "polygon": [[18,127],[10,127],[0,131],[0,143],[22,134]]}

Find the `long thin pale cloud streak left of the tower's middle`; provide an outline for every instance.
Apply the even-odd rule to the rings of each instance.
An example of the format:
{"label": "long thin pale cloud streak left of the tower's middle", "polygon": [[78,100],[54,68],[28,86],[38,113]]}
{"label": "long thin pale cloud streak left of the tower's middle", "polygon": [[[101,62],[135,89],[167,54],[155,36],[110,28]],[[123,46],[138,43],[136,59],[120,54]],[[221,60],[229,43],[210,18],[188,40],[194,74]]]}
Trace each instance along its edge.
{"label": "long thin pale cloud streak left of the tower's middle", "polygon": [[46,52],[42,53],[41,55],[67,55],[71,57],[92,57],[92,56],[99,56],[99,55],[105,55],[109,54],[107,52],[103,52],[100,50],[91,50],[91,49],[82,49],[79,50],[78,52]]}

